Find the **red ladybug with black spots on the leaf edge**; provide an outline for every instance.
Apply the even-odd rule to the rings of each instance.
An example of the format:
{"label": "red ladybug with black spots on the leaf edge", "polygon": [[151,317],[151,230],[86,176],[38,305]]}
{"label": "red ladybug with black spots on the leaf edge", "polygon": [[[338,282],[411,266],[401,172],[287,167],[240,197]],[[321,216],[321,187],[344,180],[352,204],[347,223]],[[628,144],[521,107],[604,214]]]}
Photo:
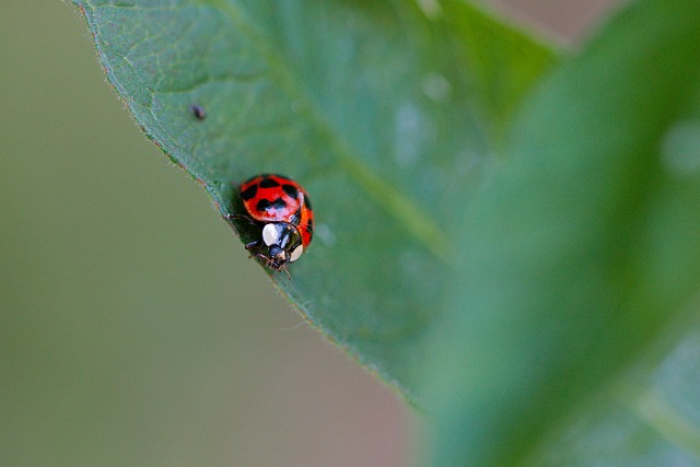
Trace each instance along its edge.
{"label": "red ladybug with black spots on the leaf edge", "polygon": [[[245,248],[276,271],[287,270],[308,248],[314,232],[314,211],[308,194],[283,175],[262,174],[244,182],[241,200],[248,221],[260,227],[260,238]],[[291,277],[290,277],[291,279]]]}

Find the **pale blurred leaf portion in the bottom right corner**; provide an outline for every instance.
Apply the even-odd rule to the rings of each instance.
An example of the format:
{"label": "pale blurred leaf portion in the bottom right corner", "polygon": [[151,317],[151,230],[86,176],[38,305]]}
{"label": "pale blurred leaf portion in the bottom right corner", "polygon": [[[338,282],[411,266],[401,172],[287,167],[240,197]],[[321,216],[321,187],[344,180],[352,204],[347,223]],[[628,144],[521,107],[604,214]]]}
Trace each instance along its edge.
{"label": "pale blurred leaf portion in the bottom right corner", "polygon": [[576,420],[535,465],[697,465],[700,334],[697,324],[691,330],[657,367],[637,369],[639,376]]}

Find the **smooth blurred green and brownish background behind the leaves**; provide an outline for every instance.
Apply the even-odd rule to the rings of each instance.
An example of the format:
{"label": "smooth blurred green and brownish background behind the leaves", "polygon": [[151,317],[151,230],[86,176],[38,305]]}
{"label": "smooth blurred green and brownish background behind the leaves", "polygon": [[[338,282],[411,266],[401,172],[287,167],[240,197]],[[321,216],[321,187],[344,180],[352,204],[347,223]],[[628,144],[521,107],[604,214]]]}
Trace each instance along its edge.
{"label": "smooth blurred green and brownish background behind the leaves", "polygon": [[[501,3],[571,37],[611,2]],[[0,85],[0,466],[409,463],[413,416],[145,140],[72,5],[4,0]]]}

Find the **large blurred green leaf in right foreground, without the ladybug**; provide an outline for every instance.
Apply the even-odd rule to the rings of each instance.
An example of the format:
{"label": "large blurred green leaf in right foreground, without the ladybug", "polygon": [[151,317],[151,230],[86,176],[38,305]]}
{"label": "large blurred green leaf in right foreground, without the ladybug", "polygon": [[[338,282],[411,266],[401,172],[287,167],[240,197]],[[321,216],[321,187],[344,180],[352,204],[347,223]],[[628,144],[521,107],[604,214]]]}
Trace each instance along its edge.
{"label": "large blurred green leaf in right foreground, without the ladybug", "polygon": [[699,84],[700,2],[644,0],[524,105],[469,201],[464,280],[425,347],[435,465],[526,462],[684,314]]}

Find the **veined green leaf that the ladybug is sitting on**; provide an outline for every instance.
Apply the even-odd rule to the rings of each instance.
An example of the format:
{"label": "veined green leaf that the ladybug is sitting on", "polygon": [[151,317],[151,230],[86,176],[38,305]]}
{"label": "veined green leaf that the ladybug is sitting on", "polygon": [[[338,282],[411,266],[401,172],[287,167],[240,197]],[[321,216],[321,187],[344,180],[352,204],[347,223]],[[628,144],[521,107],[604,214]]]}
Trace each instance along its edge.
{"label": "veined green leaf that the ladybug is sitting on", "polygon": [[[453,273],[455,192],[478,180],[489,135],[553,57],[456,1],[444,3],[450,20],[429,2],[75,3],[138,124],[222,213],[240,212],[236,186],[258,173],[308,190],[314,243],[292,281],[271,276],[331,340],[411,394]],[[487,112],[499,89],[508,102]]]}

